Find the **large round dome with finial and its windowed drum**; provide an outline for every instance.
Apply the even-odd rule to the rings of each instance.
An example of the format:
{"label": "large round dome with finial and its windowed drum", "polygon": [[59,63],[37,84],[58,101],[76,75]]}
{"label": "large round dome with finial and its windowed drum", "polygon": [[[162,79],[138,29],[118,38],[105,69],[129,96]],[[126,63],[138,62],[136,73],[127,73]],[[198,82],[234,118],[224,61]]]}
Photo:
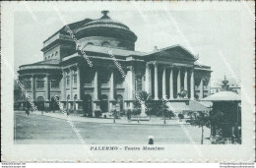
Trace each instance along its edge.
{"label": "large round dome with finial and its windowed drum", "polygon": [[108,11],[102,11],[103,16],[78,28],[76,37],[82,45],[101,45],[121,49],[134,50],[137,36],[127,26],[111,20]]}

